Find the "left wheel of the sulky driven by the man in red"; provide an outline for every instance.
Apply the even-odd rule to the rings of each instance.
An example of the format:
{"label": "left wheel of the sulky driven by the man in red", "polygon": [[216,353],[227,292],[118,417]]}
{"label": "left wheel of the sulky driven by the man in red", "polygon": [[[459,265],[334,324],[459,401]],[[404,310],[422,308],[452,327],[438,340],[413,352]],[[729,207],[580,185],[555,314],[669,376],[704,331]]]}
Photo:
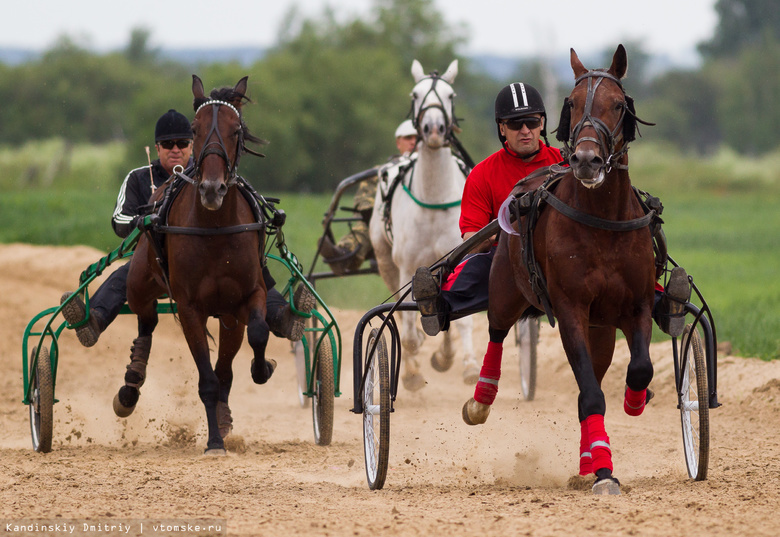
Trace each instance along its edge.
{"label": "left wheel of the sulky driven by the man in red", "polygon": [[[366,352],[374,346],[377,329],[371,331]],[[387,343],[382,336],[376,351],[366,359],[368,374],[363,388],[363,454],[366,461],[368,488],[379,490],[385,485],[390,454],[390,366]]]}

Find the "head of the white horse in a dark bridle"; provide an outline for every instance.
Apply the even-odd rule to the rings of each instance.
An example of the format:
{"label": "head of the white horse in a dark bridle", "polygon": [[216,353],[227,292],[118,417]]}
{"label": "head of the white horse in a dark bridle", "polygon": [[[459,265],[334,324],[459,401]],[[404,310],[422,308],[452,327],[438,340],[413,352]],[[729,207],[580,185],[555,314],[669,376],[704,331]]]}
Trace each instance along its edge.
{"label": "head of the white horse in a dark bridle", "polygon": [[431,149],[443,147],[455,125],[452,83],[457,75],[458,60],[453,60],[441,76],[436,71],[426,75],[420,62],[412,62],[412,122],[423,143]]}

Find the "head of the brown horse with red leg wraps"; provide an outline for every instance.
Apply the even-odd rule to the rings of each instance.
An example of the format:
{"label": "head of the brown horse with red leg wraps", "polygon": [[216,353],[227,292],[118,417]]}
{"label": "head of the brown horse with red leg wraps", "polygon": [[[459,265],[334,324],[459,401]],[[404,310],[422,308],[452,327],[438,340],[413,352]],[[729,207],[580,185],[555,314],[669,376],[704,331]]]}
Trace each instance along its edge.
{"label": "head of the brown horse with red leg wraps", "polygon": [[563,104],[558,140],[574,176],[587,188],[598,188],[613,167],[623,162],[634,139],[636,116],[631,97],[620,82],[626,74],[626,49],[618,45],[609,69],[589,70],[571,49],[574,89]]}

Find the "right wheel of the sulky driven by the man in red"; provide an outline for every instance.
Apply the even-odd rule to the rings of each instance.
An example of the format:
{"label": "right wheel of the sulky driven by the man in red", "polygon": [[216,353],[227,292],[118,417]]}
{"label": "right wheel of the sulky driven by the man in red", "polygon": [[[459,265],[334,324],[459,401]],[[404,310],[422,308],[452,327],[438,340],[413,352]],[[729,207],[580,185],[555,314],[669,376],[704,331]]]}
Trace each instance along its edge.
{"label": "right wheel of the sulky driven by the man in red", "polygon": [[707,479],[710,457],[710,412],[707,363],[701,336],[687,325],[680,338],[681,375],[680,418],[688,475],[696,481]]}

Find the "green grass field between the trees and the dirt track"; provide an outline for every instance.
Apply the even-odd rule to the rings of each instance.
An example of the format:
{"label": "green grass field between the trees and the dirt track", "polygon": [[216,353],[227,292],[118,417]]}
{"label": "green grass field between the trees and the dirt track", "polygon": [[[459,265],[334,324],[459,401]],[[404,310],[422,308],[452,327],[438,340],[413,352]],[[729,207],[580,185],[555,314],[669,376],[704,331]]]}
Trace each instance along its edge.
{"label": "green grass field between the trees and the dirt track", "polygon": [[[42,147],[42,149],[41,149]],[[74,147],[57,141],[33,152],[0,148],[0,242],[119,244],[109,223],[126,170],[121,147]],[[67,158],[63,154],[67,153]],[[631,151],[635,185],[661,198],[669,253],[694,278],[713,310],[720,341],[743,356],[780,357],[780,153],[760,160],[728,152],[703,159],[668,148]],[[359,170],[356,170],[359,171]],[[330,195],[279,193],[285,237],[308,270]],[[342,200],[348,205],[350,200]],[[276,253],[273,251],[272,253]],[[324,267],[320,262],[319,270]],[[277,279],[285,276],[274,270]],[[75,283],[75,282],[74,282]],[[388,298],[377,276],[323,280],[329,305],[367,310]],[[659,336],[662,337],[662,336]]]}

